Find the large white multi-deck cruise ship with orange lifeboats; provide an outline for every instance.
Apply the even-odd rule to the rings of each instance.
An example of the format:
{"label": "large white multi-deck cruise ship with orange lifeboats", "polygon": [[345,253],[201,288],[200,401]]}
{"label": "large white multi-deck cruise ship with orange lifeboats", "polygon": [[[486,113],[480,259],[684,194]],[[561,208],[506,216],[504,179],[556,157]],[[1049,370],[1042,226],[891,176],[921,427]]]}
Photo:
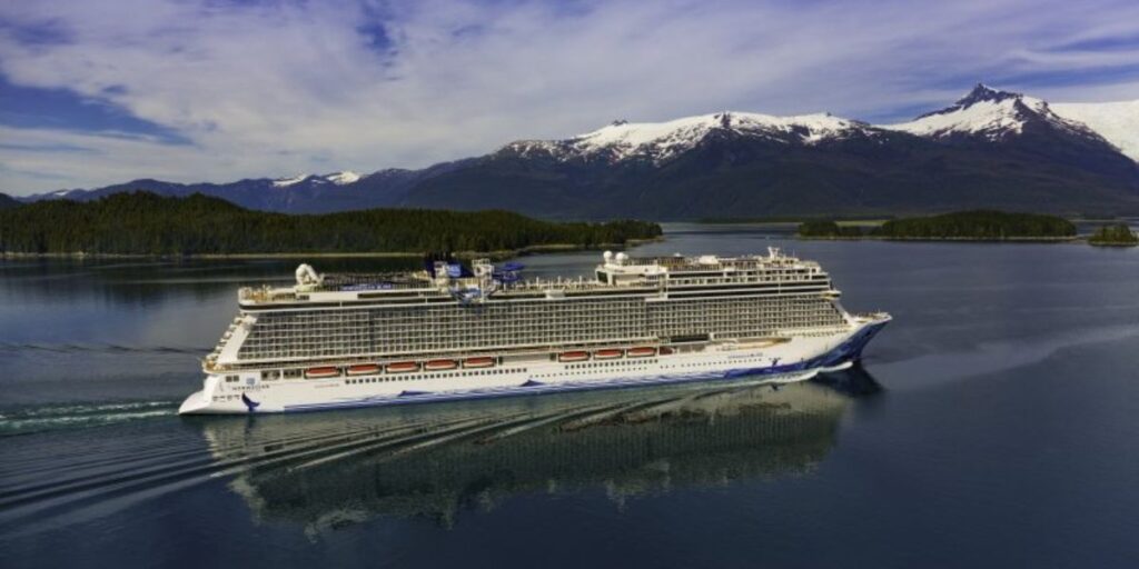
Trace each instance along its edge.
{"label": "large white multi-deck cruise ship with orange lifeboats", "polygon": [[634,258],[596,274],[434,261],[390,274],[296,270],[238,290],[238,315],[179,413],[272,413],[648,384],[810,379],[849,368],[891,318],[852,314],[818,263]]}

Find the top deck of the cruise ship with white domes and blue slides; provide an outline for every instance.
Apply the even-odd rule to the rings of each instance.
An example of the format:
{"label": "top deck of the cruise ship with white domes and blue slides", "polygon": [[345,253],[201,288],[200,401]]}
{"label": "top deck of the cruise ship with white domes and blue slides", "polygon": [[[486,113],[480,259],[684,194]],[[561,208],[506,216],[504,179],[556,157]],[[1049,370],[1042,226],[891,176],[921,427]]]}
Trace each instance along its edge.
{"label": "top deck of the cruise ship with white domes and blue slides", "polygon": [[407,273],[318,274],[309,265],[296,271],[293,287],[241,288],[243,308],[271,310],[343,305],[345,303],[460,302],[482,303],[526,298],[566,298],[609,295],[698,294],[700,290],[755,288],[773,291],[827,290],[835,295],[829,275],[812,261],[769,248],[768,255],[719,257],[629,257],[606,251],[595,278],[523,279],[521,265],[498,267],[475,261],[473,271],[437,262],[428,270]]}

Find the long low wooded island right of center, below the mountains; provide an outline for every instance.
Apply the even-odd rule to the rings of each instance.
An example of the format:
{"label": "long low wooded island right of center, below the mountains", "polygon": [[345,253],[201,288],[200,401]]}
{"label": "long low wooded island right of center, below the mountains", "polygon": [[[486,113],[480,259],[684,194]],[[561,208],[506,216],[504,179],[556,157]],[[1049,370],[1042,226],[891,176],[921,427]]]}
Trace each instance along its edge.
{"label": "long low wooded island right of center, below the mountains", "polygon": [[1075,237],[1075,225],[1055,215],[974,211],[890,220],[867,229],[833,221],[811,221],[798,226],[798,234],[882,239],[1056,239]]}

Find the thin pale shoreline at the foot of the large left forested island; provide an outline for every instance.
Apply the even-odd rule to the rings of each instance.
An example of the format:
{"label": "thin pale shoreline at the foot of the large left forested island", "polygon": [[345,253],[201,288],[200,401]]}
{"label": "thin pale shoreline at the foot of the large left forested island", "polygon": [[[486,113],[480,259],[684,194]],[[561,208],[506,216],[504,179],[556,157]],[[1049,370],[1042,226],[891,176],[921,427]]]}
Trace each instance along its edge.
{"label": "thin pale shoreline at the foot of the large left forested island", "polygon": [[[582,250],[605,250],[605,249],[628,249],[638,245],[645,245],[664,240],[664,237],[649,239],[630,239],[624,244],[596,244],[590,246],[574,244],[544,244],[530,245],[517,249],[503,249],[493,251],[453,251],[457,258],[491,257],[492,259],[503,259],[510,257],[522,257],[541,253],[572,253]],[[281,251],[281,253],[24,253],[24,251],[0,251],[0,258],[185,258],[185,259],[262,259],[262,258],[419,258],[427,251]]]}

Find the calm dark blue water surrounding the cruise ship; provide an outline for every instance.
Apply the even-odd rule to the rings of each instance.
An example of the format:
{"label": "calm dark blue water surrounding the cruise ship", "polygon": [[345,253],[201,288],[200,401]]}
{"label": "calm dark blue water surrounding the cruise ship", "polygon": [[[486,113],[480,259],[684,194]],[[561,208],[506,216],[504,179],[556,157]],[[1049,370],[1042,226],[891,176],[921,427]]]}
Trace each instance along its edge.
{"label": "calm dark blue water surrounding the cruise ship", "polygon": [[294,262],[0,262],[0,566],[1139,566],[1139,249],[637,253],[768,245],[894,314],[863,370],[213,419],[197,360]]}

